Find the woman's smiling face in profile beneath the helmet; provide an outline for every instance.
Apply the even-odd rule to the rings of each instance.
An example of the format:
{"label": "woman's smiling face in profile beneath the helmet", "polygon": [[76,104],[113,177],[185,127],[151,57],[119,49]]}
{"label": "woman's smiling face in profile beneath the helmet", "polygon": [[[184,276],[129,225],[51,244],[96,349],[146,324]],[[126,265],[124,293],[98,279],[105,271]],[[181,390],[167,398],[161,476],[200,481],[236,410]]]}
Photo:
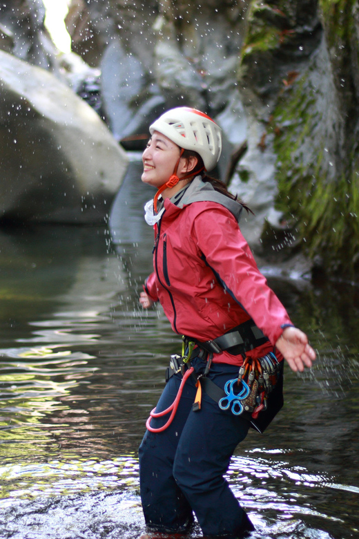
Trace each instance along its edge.
{"label": "woman's smiling face in profile beneath the helmet", "polygon": [[154,131],[142,154],[142,162],[144,163],[142,182],[159,189],[171,178],[179,153],[180,149],[177,144],[158,131]]}

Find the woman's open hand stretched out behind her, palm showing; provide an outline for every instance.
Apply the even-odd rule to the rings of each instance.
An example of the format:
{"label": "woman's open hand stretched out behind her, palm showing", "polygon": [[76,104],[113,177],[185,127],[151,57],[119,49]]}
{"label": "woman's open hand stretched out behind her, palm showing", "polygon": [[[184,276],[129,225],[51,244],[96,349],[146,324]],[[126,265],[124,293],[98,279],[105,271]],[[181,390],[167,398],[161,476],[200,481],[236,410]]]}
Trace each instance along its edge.
{"label": "woman's open hand stretched out behind her, palm showing", "polygon": [[302,372],[305,367],[310,368],[316,359],[316,352],[309,345],[307,335],[298,328],[285,328],[275,343],[275,348],[287,359],[294,372]]}

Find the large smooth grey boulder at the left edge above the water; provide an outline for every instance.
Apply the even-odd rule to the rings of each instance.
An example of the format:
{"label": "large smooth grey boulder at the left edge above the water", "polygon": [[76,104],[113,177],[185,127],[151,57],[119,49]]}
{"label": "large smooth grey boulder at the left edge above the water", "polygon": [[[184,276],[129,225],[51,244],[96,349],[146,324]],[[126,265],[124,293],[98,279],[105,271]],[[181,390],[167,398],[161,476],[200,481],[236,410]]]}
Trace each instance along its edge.
{"label": "large smooth grey boulder at the left edge above the water", "polygon": [[0,216],[104,223],[128,158],[99,116],[46,70],[0,51]]}

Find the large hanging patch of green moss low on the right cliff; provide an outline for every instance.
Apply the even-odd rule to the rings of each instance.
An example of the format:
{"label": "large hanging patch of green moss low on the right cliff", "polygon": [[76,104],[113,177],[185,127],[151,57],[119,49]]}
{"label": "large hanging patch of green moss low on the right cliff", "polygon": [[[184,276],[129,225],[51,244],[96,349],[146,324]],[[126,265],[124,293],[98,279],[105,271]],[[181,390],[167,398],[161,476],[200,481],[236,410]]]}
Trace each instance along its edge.
{"label": "large hanging patch of green moss low on the right cliff", "polygon": [[[359,162],[349,156],[339,177],[328,179],[325,140],[312,135],[320,120],[315,104],[305,77],[278,100],[272,122],[277,129],[277,207],[294,218],[309,256],[320,254],[327,267],[353,269],[359,256]],[[286,127],[278,131],[281,122]],[[315,160],[300,154],[306,138],[317,144]]]}

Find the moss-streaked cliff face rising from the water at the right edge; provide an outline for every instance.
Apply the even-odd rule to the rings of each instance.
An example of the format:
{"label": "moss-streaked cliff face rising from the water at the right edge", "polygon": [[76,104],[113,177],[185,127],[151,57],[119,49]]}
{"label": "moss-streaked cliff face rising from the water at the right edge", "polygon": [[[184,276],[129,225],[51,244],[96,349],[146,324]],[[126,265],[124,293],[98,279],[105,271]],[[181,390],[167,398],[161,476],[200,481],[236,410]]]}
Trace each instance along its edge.
{"label": "moss-streaked cliff face rising from the water at the right edge", "polygon": [[[262,7],[252,5],[242,53],[242,66],[257,62],[257,80],[261,66],[268,70],[273,62],[277,68],[268,76],[287,71],[274,82],[274,95],[265,81],[253,86],[245,70],[242,77],[271,104],[266,133],[276,155],[276,207],[316,263],[353,269],[359,256],[358,2],[322,0],[311,2],[311,10],[305,3],[282,4],[282,29],[277,19],[265,25],[264,35],[256,30]],[[305,25],[300,10],[311,13]]]}

